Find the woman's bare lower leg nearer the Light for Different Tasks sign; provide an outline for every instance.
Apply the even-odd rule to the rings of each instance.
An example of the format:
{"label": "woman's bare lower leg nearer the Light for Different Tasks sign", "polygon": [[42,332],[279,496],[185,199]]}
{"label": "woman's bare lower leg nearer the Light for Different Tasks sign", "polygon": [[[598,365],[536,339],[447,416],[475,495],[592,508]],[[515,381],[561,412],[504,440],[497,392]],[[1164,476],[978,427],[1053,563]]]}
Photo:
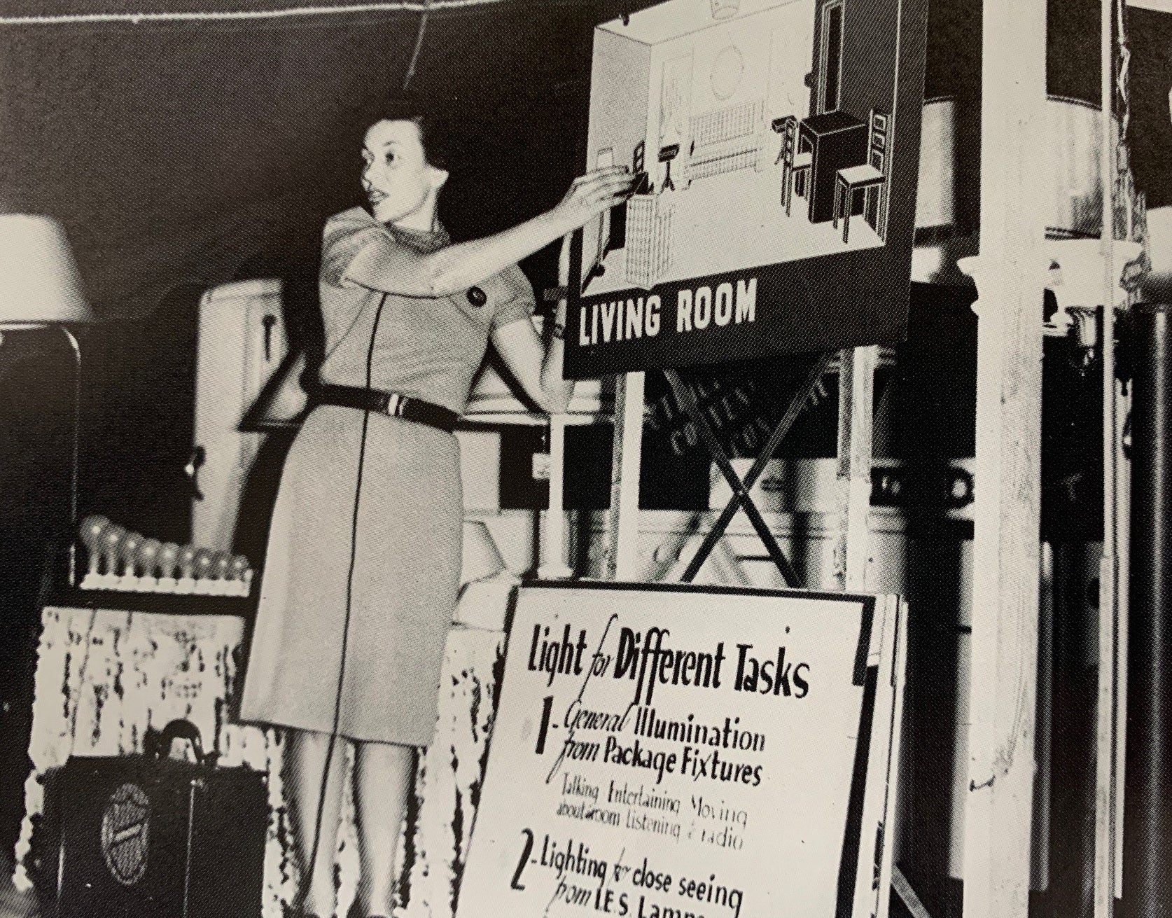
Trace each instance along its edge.
{"label": "woman's bare lower leg nearer the Light for Different Tasks sign", "polygon": [[390,916],[398,877],[395,852],[407,795],[415,786],[415,747],[354,743],[354,810],[362,877],[357,905],[363,916]]}

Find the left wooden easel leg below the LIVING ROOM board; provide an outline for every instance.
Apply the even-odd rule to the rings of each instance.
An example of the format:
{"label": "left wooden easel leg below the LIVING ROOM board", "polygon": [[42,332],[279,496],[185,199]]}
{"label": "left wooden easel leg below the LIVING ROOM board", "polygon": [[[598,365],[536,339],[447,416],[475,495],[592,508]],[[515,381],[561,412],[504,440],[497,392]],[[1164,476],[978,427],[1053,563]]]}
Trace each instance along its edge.
{"label": "left wooden easel leg below the LIVING ROOM board", "polygon": [[614,387],[614,451],[607,514],[606,579],[639,573],[639,465],[643,449],[642,373],[619,376]]}

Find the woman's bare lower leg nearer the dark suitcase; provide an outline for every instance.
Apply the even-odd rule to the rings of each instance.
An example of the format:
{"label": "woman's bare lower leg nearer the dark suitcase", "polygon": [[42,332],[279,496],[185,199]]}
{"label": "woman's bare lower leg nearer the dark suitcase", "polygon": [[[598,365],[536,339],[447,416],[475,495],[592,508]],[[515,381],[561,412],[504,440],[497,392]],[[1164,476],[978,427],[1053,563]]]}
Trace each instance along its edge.
{"label": "woman's bare lower leg nearer the dark suitcase", "polygon": [[[338,852],[338,822],[342,808],[342,769],[346,763],[346,740],[336,737],[331,748],[328,733],[291,729],[286,734],[286,787],[293,838],[301,865],[301,902],[305,911],[316,916],[334,913],[334,856]],[[329,777],[326,760],[329,759]],[[325,795],[322,790],[325,789]],[[321,828],[318,829],[318,811]],[[316,852],[314,852],[314,835]],[[313,859],[311,868],[309,862]]]}

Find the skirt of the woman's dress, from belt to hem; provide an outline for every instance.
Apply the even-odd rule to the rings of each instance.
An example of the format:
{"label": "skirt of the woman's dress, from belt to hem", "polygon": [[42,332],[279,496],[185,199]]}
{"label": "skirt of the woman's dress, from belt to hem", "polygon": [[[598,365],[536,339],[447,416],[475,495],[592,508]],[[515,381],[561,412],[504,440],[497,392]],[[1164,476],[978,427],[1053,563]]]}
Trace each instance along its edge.
{"label": "skirt of the woman's dress, from belt to hem", "polygon": [[286,458],[240,715],[427,746],[459,589],[459,446],[372,414],[363,449],[363,417],[315,408]]}

